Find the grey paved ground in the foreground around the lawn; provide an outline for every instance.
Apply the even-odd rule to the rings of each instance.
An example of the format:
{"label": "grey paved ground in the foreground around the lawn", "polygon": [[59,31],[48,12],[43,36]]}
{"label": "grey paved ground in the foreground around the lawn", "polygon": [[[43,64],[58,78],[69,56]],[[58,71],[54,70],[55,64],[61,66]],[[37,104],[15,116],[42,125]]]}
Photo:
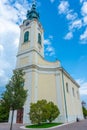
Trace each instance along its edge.
{"label": "grey paved ground in the foreground around the lawn", "polygon": [[[12,130],[24,130],[24,129],[20,128],[21,126],[23,126],[23,125],[15,124],[15,125],[13,125]],[[10,130],[10,124],[0,123],[0,130]],[[28,130],[32,130],[32,129],[28,129]],[[33,130],[36,130],[36,129],[33,129]],[[49,129],[39,129],[39,130],[87,130],[87,119],[80,121],[80,122],[75,122],[75,123],[71,123],[68,125],[64,125],[61,127],[55,127],[55,128],[49,128]]]}

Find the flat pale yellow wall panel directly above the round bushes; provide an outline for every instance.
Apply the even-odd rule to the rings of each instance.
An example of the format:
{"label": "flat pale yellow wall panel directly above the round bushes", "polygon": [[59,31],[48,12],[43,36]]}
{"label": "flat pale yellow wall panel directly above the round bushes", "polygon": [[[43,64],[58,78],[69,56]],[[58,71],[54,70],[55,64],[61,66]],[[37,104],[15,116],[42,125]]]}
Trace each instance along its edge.
{"label": "flat pale yellow wall panel directly above the round bushes", "polygon": [[46,99],[57,104],[56,80],[54,74],[39,74],[38,99]]}

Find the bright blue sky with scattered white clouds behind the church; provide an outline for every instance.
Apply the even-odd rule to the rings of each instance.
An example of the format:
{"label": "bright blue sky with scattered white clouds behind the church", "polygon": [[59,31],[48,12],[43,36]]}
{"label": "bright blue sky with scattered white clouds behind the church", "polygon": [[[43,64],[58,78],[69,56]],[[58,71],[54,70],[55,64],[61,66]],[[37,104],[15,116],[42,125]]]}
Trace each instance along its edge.
{"label": "bright blue sky with scattered white clouds behind the church", "polygon": [[[37,0],[45,59],[60,60],[87,103],[87,0]],[[16,65],[20,28],[32,0],[0,0],[0,94]]]}

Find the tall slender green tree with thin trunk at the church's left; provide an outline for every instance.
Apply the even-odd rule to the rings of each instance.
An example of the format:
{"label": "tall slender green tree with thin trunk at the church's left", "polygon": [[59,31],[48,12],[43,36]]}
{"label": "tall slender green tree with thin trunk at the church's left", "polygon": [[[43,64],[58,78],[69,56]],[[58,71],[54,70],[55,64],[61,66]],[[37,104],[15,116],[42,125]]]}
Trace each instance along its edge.
{"label": "tall slender green tree with thin trunk at the church's left", "polygon": [[2,100],[6,107],[12,110],[12,123],[14,110],[21,109],[27,98],[27,90],[24,90],[24,72],[23,70],[14,70],[11,80],[6,85],[6,91],[2,94]]}

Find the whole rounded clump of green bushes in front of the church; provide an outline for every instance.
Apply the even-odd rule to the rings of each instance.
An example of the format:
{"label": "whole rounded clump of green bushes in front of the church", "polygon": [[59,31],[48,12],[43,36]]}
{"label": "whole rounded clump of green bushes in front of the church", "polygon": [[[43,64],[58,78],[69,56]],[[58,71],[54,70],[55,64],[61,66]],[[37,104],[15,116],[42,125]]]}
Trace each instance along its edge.
{"label": "whole rounded clump of green bushes in front of the church", "polygon": [[31,103],[29,115],[32,124],[39,125],[47,120],[52,122],[59,115],[59,110],[53,102],[39,100],[37,103]]}

